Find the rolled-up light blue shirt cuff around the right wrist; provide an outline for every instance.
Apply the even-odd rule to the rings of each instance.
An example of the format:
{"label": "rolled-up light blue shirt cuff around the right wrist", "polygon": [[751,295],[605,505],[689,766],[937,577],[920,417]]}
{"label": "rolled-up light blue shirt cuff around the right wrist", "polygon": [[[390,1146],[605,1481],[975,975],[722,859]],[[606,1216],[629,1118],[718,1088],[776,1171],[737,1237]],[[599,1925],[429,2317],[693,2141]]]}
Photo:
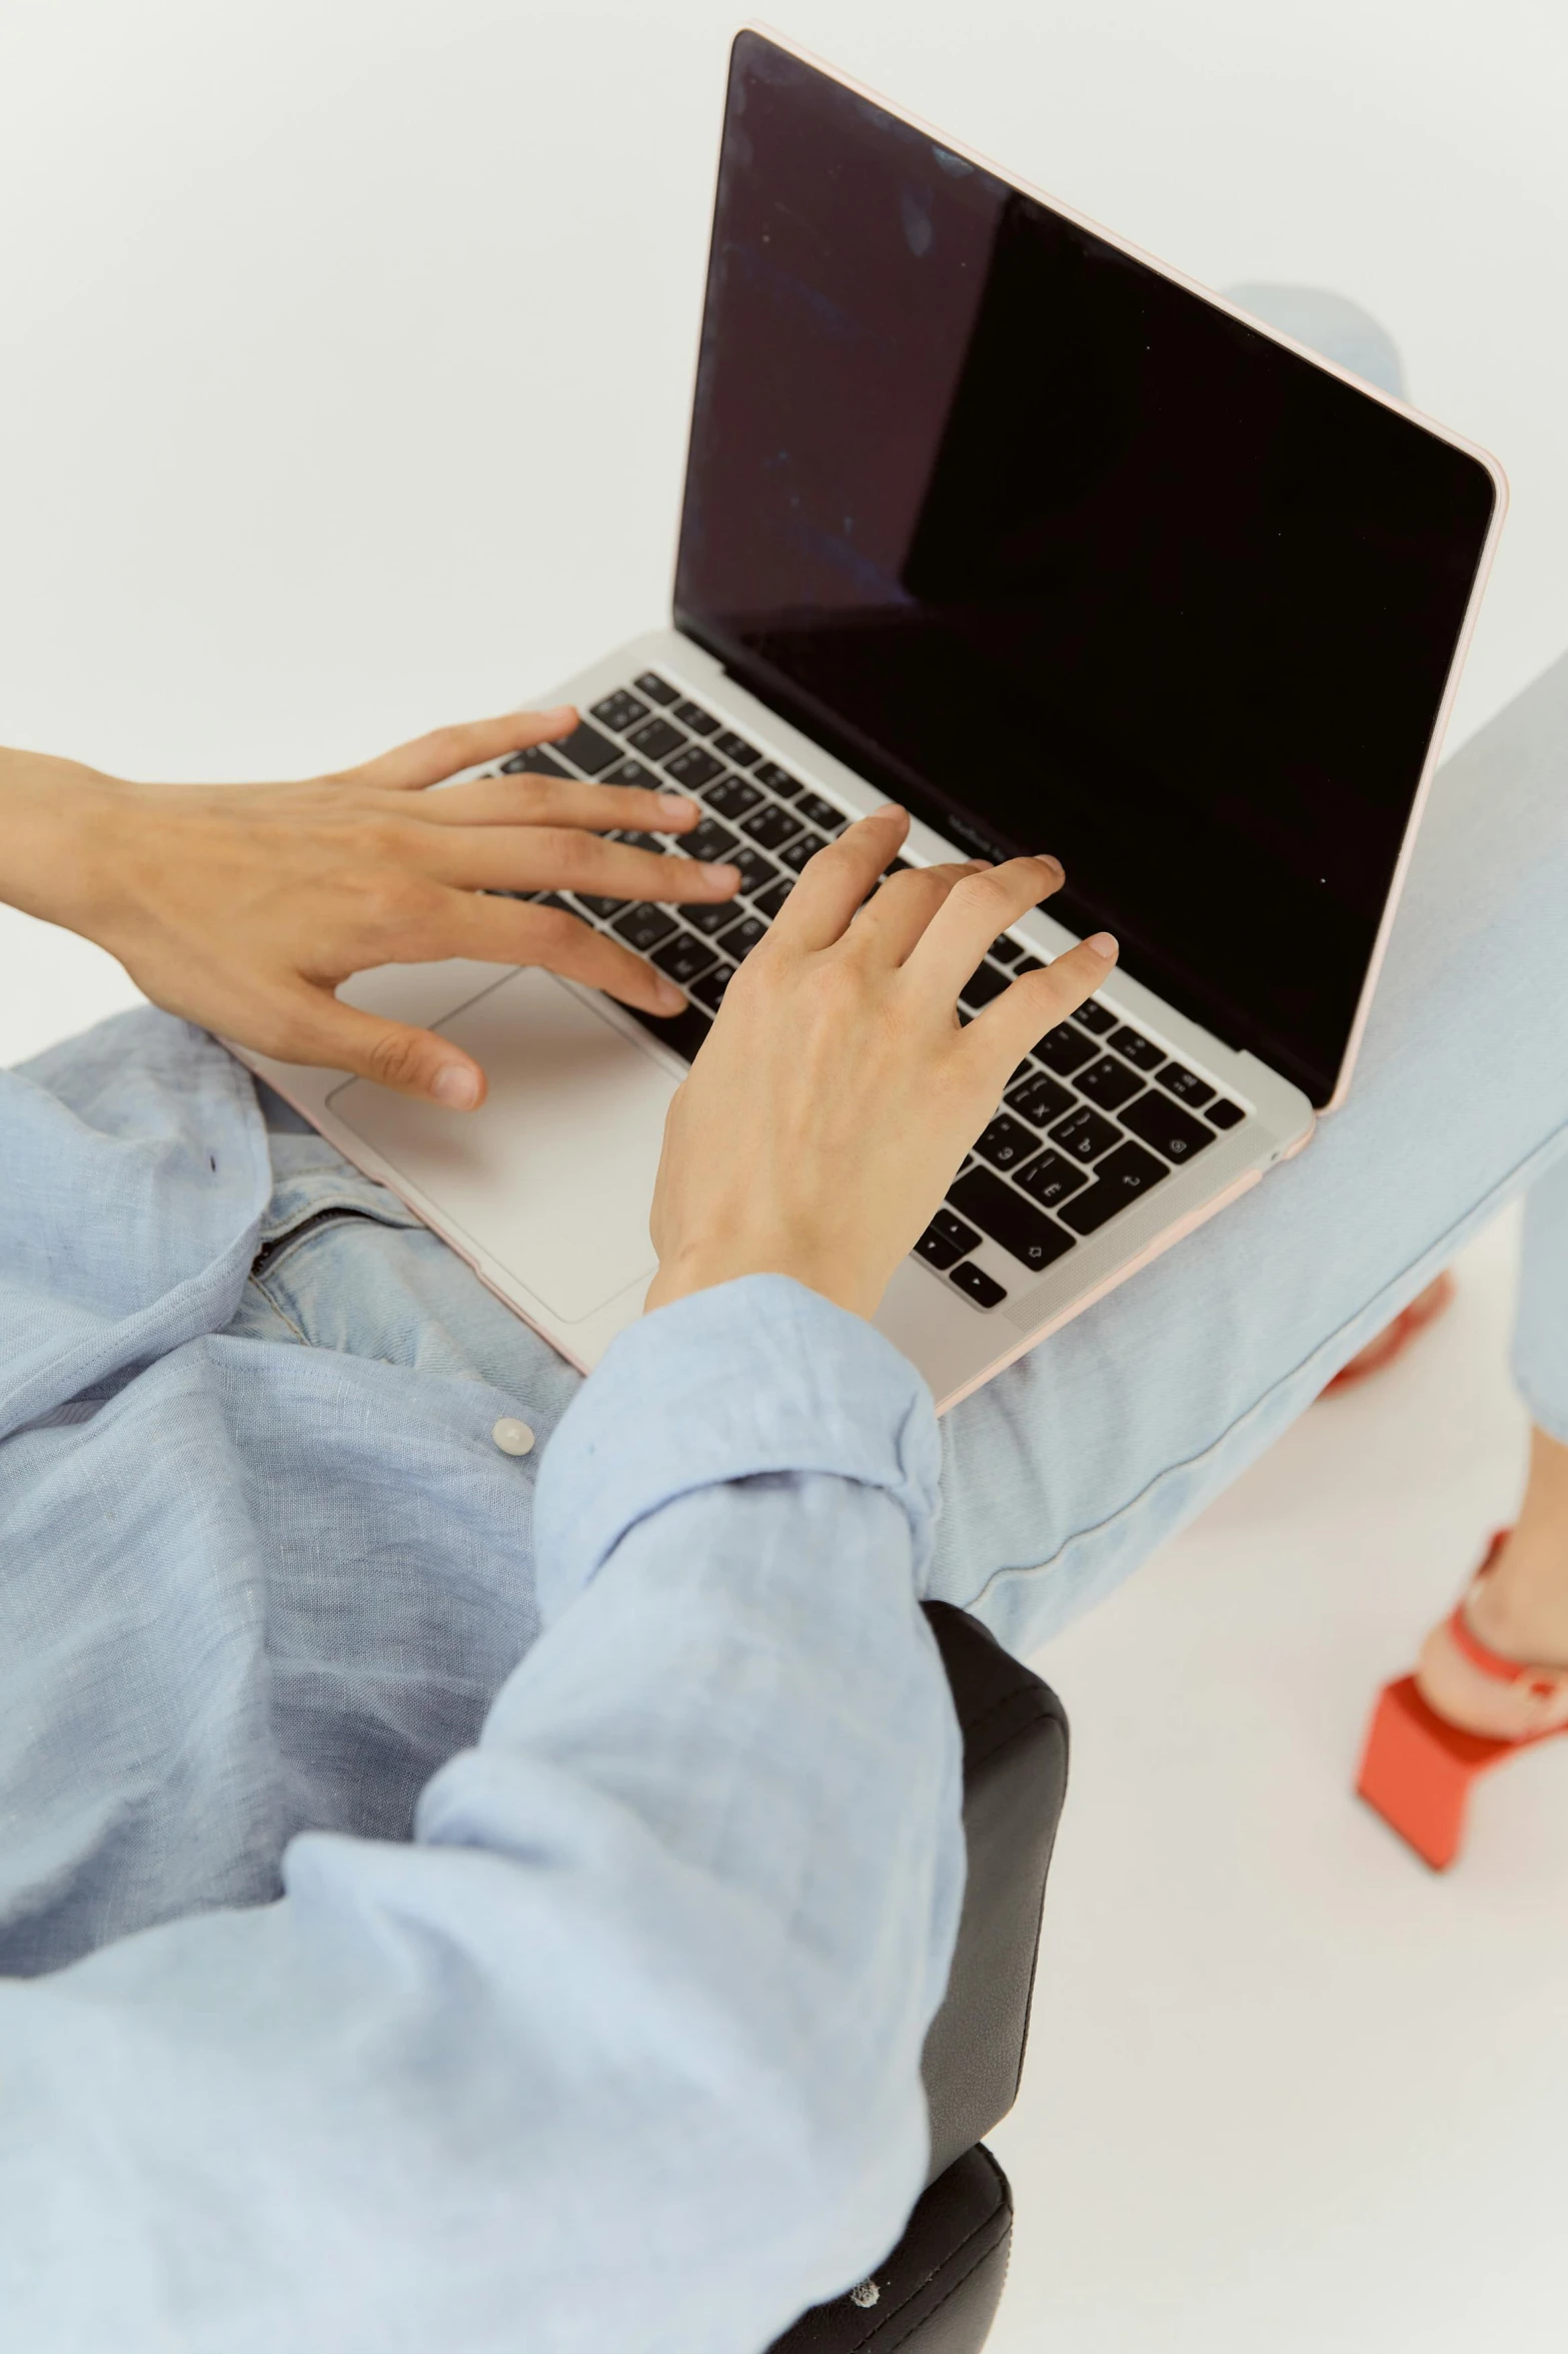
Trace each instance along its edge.
{"label": "rolled-up light blue shirt cuff around the right wrist", "polygon": [[621,1332],[557,1424],[534,1504],[543,1617],[646,1514],[790,1471],[896,1497],[924,1589],[940,1467],[931,1391],[860,1316],[792,1276],[691,1292]]}

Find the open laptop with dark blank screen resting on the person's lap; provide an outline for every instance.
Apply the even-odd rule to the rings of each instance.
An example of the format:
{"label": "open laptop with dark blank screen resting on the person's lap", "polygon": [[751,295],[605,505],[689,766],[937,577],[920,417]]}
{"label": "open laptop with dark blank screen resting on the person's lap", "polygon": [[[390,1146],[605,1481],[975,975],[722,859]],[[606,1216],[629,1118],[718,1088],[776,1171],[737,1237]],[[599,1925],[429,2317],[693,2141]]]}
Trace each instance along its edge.
{"label": "open laptop with dark blank screen resting on the person's lap", "polygon": [[[510,965],[355,1005],[451,1036],[468,1116],[247,1055],[588,1370],[644,1302],[668,1102],[806,859],[1067,885],[959,1000],[1105,925],[877,1323],[947,1408],[1255,1186],[1349,1085],[1505,508],[1483,452],[771,33],[731,49],[672,612],[515,756],[705,803],[724,906],[571,897],[679,982]],[[484,772],[477,772],[484,774]]]}

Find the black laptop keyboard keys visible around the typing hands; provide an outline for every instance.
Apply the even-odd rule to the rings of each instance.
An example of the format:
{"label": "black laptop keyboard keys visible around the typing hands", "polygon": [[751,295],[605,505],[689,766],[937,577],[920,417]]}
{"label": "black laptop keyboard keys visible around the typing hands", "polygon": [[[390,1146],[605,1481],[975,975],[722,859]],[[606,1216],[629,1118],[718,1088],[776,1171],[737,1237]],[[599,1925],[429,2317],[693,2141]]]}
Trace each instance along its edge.
{"label": "black laptop keyboard keys visible around the typing hands", "polygon": [[[677,982],[686,991],[684,1012],[661,1017],[635,1005],[625,1012],[686,1062],[708,1036],[741,960],[790,897],[795,876],[851,822],[658,671],[642,671],[602,694],[564,742],[512,753],[501,770],[654,791],[677,784],[705,805],[691,833],[614,833],[609,840],[729,859],[741,869],[741,895],[722,906],[677,911],[581,892],[517,895],[614,932]],[[898,866],[903,859],[891,871]],[[964,984],[959,1022],[971,1022],[1020,972],[1037,970],[1039,958],[1004,932]],[[1241,1104],[1091,998],[1018,1064],[997,1118],[914,1252],[976,1306],[994,1309],[1009,1288],[976,1264],[983,1236],[1018,1262],[1020,1283],[1039,1276],[1244,1118]]]}

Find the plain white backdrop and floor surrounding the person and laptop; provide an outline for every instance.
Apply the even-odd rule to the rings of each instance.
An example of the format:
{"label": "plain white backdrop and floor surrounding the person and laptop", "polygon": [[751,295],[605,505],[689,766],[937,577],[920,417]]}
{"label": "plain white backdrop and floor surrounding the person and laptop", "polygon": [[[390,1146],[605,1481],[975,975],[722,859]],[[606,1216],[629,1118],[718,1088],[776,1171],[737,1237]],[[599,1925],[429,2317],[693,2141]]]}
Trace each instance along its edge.
{"label": "plain white backdrop and floor surrounding the person and laptop", "polygon": [[[736,21],[0,0],[0,739],[299,774],[658,621]],[[1206,282],[1375,311],[1514,483],[1458,730],[1561,652],[1561,0],[780,21]],[[0,911],[0,1062],[129,996]],[[1512,1502],[1507,1283],[1500,1231],[1418,1361],[1046,1662],[1077,1782],[997,2354],[1568,2338],[1568,1747],[1486,1791],[1443,1883],[1345,1796]]]}

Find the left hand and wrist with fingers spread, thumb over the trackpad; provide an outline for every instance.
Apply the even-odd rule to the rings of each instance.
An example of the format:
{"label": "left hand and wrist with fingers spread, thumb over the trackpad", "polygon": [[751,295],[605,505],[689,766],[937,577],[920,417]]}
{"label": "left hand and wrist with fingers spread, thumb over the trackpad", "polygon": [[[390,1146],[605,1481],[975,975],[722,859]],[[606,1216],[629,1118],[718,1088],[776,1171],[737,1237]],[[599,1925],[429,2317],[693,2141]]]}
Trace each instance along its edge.
{"label": "left hand and wrist with fingers spread, thumb over the trackpad", "polygon": [[468,1111],[484,1071],[447,1038],[334,996],[371,965],[473,956],[548,965],[628,1005],[686,1003],[632,949],[505,892],[729,899],[733,866],[609,831],[689,833],[684,793],[458,770],[569,734],[576,711],[442,727],[308,784],[127,784],[0,753],[0,899],[85,932],[155,1005],[280,1062],[357,1071]]}

